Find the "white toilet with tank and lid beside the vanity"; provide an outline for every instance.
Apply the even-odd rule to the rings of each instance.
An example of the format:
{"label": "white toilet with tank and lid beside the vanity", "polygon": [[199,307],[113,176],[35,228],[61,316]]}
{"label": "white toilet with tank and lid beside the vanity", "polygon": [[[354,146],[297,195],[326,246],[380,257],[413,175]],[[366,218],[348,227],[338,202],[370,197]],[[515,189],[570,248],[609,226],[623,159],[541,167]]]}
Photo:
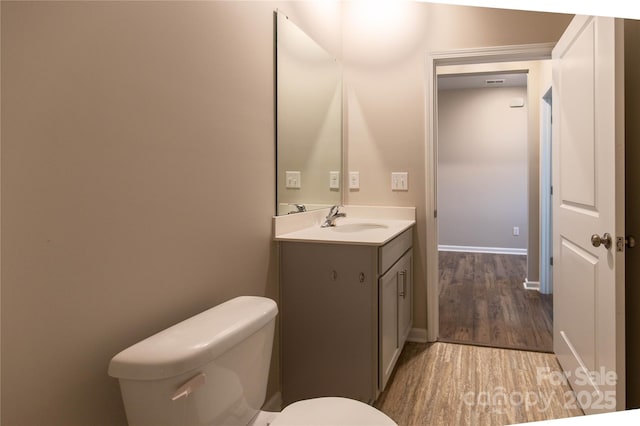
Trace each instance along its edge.
{"label": "white toilet with tank and lid beside the vanity", "polygon": [[278,308],[232,299],[113,357],[129,425],[395,425],[347,398],[315,398],[280,413],[260,411],[267,391]]}

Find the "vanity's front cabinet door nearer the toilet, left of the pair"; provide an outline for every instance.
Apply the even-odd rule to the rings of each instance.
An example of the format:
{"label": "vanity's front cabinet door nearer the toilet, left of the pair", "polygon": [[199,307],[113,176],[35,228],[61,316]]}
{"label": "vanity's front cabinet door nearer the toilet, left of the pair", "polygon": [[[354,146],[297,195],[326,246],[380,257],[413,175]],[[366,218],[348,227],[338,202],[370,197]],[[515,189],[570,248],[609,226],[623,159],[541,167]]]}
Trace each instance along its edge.
{"label": "vanity's front cabinet door nearer the toilet, left of the pair", "polygon": [[380,391],[387,385],[400,355],[400,339],[398,335],[398,284],[400,283],[400,268],[394,265],[380,277],[378,281],[380,291]]}

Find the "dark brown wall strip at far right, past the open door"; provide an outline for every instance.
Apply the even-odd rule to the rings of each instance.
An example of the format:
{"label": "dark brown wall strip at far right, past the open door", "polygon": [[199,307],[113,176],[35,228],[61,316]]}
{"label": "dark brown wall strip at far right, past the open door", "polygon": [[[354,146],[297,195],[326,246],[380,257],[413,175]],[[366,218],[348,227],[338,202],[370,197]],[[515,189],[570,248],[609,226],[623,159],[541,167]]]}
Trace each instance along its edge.
{"label": "dark brown wall strip at far right, past the open door", "polygon": [[[625,21],[625,179],[627,235],[640,237],[640,21]],[[640,242],[640,239],[638,240]],[[640,408],[640,248],[626,252],[627,408]]]}

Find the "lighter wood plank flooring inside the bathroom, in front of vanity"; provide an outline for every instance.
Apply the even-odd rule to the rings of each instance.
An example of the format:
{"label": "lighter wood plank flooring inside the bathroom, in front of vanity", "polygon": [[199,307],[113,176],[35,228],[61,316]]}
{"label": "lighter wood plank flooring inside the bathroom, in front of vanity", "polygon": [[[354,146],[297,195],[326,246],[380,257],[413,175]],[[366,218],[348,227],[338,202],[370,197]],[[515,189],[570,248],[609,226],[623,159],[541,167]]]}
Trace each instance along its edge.
{"label": "lighter wood plank flooring inside the bathroom, in front of vanity", "polygon": [[555,355],[407,343],[374,406],[400,426],[503,425],[582,415]]}

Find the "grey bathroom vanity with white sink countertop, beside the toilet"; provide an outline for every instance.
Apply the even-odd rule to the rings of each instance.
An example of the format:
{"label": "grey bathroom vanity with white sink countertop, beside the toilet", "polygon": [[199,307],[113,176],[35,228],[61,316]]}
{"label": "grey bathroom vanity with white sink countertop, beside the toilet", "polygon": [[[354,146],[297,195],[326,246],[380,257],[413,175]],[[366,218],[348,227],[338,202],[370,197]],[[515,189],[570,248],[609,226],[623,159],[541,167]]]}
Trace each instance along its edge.
{"label": "grey bathroom vanity with white sink countertop, beside the toilet", "polygon": [[319,396],[372,403],[384,390],[413,323],[410,211],[348,212],[333,228],[276,233],[284,406]]}

